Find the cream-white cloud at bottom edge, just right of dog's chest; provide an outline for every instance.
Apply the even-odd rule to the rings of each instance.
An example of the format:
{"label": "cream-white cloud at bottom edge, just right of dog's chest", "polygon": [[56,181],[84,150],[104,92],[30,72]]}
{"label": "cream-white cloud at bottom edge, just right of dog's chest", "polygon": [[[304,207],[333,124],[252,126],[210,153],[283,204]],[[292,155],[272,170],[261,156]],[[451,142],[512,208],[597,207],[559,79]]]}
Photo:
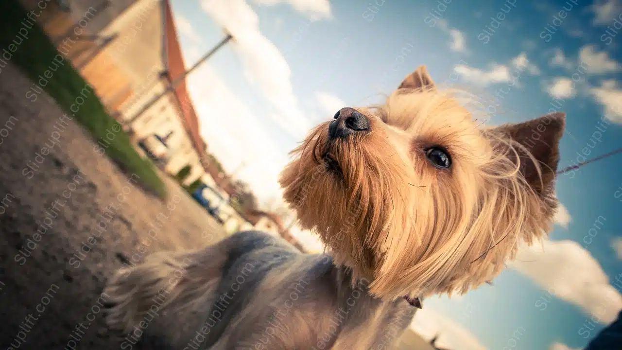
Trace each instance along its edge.
{"label": "cream-white cloud at bottom edge, just right of dog's chest", "polygon": [[439,348],[484,350],[479,339],[462,324],[453,321],[430,308],[417,310],[411,328],[425,339],[439,335],[436,345]]}

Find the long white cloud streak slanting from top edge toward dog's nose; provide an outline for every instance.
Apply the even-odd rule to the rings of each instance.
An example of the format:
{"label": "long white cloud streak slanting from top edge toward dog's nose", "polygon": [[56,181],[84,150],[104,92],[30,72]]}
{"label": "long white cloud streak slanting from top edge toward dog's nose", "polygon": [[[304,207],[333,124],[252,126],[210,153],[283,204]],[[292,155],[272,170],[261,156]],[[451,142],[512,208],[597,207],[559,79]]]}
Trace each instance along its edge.
{"label": "long white cloud streak slanting from top edge toward dog's nose", "polygon": [[[283,1],[263,0],[261,4],[278,4]],[[315,2],[290,0],[299,11],[316,18],[325,14],[324,7]],[[328,6],[328,5],[326,5]],[[259,32],[259,19],[251,6],[244,0],[215,1],[203,0],[202,7],[220,26],[225,27],[234,37],[234,49],[243,62],[246,78],[253,83],[264,97],[277,109],[271,116],[283,130],[297,140],[302,140],[312,128],[294,95],[290,81],[291,71],[285,58],[264,35]],[[320,11],[320,12],[318,12]],[[328,9],[330,14],[330,7]]]}

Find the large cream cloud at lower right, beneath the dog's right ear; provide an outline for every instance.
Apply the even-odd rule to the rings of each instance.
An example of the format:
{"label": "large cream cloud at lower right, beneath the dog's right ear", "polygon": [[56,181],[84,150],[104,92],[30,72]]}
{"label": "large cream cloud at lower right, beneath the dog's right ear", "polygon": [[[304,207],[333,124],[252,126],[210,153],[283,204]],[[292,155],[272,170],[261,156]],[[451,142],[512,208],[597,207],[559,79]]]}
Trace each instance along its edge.
{"label": "large cream cloud at lower right, beneath the dog's right ear", "polygon": [[622,295],[592,257],[572,240],[522,244],[508,265],[531,278],[542,290],[579,306],[602,323],[611,323],[622,309]]}

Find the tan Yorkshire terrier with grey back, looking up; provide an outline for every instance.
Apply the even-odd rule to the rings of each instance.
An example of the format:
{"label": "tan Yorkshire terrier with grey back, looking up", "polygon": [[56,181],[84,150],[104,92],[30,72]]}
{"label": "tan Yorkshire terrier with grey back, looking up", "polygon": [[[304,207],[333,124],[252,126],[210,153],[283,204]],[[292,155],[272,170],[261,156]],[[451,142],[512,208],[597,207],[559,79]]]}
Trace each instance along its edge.
{"label": "tan Yorkshire terrier with grey back, looking up", "polygon": [[106,323],[122,349],[391,349],[423,298],[491,281],[549,232],[564,125],[480,128],[419,67],[317,126],[281,174],[328,254],[254,231],[155,253],[109,280]]}

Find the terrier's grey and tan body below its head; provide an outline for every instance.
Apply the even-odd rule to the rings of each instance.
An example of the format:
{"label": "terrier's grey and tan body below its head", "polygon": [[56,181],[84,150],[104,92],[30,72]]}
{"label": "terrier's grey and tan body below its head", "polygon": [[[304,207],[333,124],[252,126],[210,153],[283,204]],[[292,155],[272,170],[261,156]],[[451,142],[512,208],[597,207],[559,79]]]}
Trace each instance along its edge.
{"label": "terrier's grey and tan body below its head", "polygon": [[[150,270],[183,269],[179,281],[168,288],[170,299],[149,323],[137,310],[152,306],[136,303],[150,303],[153,292],[141,294],[137,287],[152,290],[155,283],[166,289],[165,278],[156,281],[154,273],[139,265],[125,272],[126,278],[113,278],[106,289],[116,304],[108,324],[126,332],[141,329],[141,343],[147,349],[388,345],[392,339],[383,341],[381,331],[392,331],[395,338],[414,313],[405,301],[371,298],[363,282],[352,286],[349,273],[335,267],[328,255],[302,254],[285,240],[262,232],[239,232],[197,252],[172,253],[170,259],[176,263],[160,258],[157,267],[146,262]],[[175,271],[169,270],[167,275],[171,274]],[[128,283],[134,283],[134,293],[119,293]],[[128,320],[126,315],[133,317]]]}

